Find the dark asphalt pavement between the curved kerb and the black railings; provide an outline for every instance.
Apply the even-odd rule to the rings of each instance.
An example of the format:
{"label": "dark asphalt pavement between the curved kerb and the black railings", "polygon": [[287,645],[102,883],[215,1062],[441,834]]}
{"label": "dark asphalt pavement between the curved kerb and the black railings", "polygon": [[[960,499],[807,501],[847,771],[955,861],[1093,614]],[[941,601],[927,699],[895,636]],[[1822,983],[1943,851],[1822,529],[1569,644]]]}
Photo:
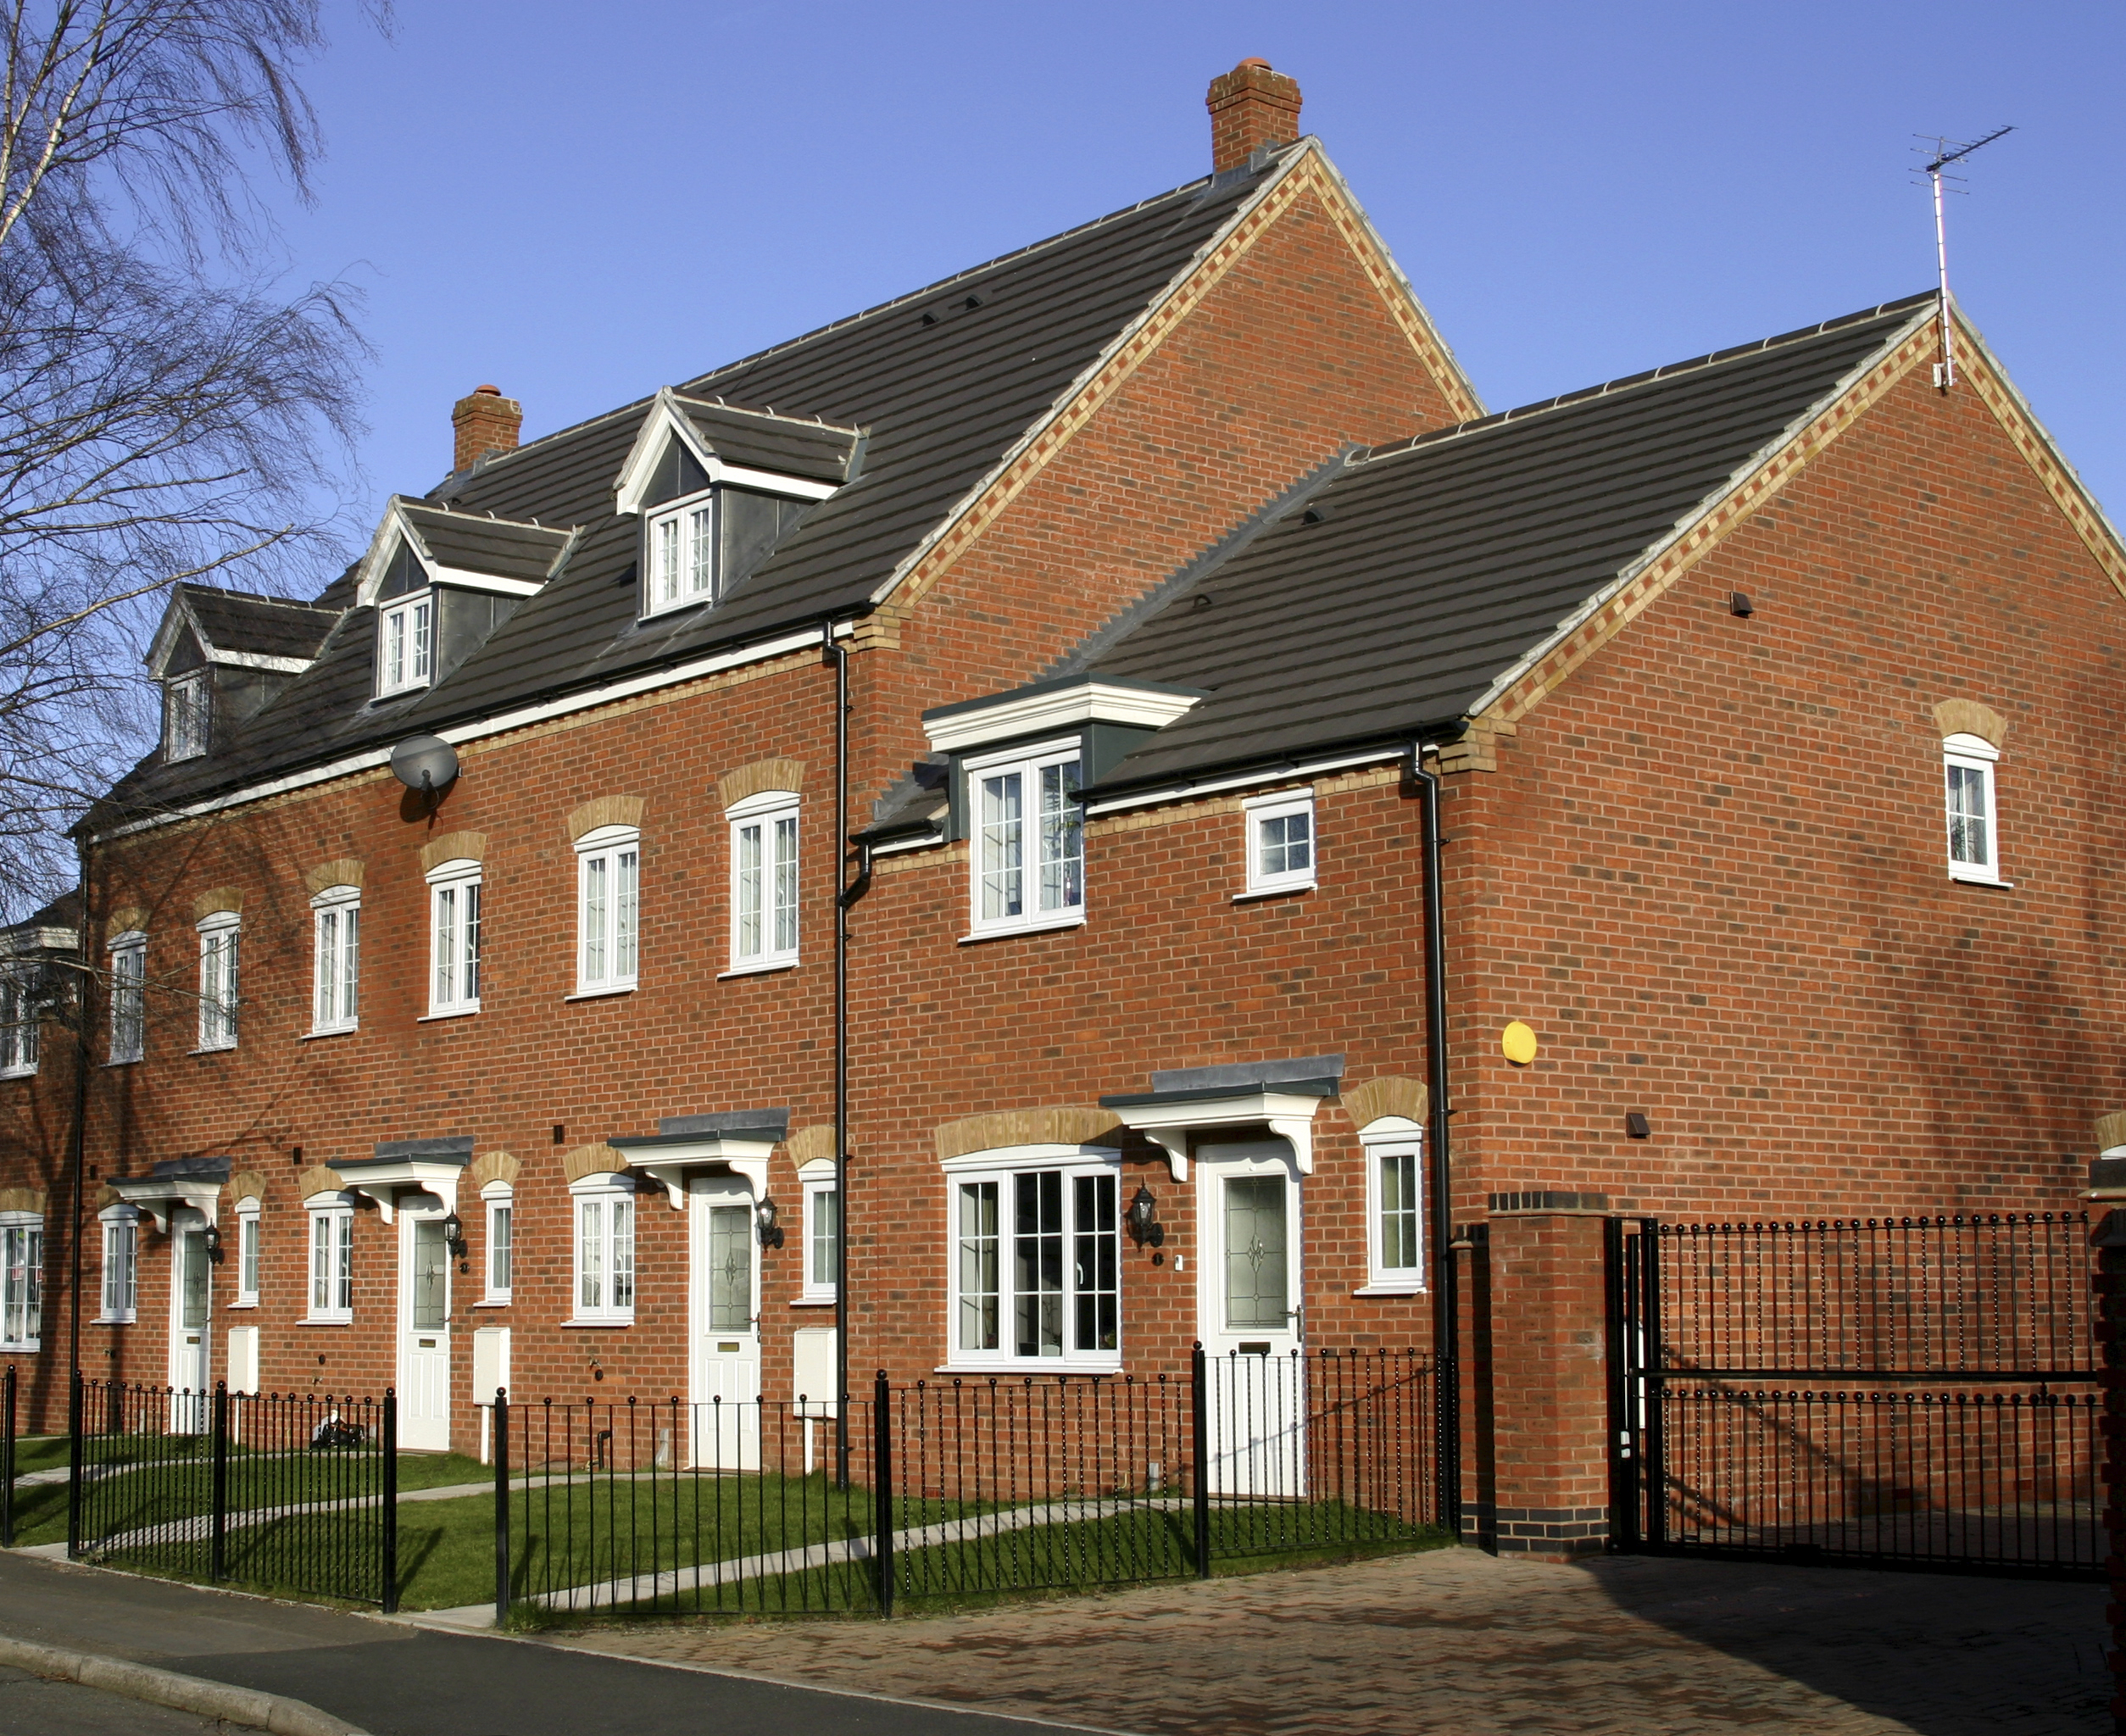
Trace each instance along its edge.
{"label": "dark asphalt pavement between the curved kerb and the black railings", "polygon": [[[432,1634],[364,1615],[200,1592],[155,1579],[0,1553],[0,1632],[74,1651],[308,1700],[372,1736],[1031,1736],[1054,1725],[855,1694],[674,1670],[519,1640]],[[36,1708],[38,1685],[0,1681]],[[79,1691],[77,1691],[79,1694]],[[108,1696],[94,1696],[106,1700]],[[66,1704],[62,1704],[66,1702]],[[0,1732],[183,1732],[183,1715],[123,1702],[130,1721],[98,1717],[53,1689],[47,1723]]]}

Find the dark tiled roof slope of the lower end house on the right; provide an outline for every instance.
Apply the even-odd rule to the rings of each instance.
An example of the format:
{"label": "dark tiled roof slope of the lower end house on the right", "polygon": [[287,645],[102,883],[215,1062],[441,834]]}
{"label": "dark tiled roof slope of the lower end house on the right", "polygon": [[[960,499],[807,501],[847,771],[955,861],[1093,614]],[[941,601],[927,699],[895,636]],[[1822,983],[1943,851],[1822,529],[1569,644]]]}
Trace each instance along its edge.
{"label": "dark tiled roof slope of the lower end house on the right", "polygon": [[1463,718],[1928,300],[1354,453],[1148,620],[1050,671],[1212,691],[1103,790]]}

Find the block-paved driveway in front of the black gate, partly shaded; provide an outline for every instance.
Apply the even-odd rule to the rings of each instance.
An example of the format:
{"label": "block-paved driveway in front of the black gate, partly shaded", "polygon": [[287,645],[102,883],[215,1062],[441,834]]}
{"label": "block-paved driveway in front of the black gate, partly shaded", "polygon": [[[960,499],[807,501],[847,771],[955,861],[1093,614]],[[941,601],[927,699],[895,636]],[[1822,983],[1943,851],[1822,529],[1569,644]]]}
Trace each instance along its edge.
{"label": "block-paved driveway in front of the black gate, partly shaded", "polygon": [[1148,1736],[2109,1736],[2105,1589],[1441,1549],[980,1615],[561,1645]]}

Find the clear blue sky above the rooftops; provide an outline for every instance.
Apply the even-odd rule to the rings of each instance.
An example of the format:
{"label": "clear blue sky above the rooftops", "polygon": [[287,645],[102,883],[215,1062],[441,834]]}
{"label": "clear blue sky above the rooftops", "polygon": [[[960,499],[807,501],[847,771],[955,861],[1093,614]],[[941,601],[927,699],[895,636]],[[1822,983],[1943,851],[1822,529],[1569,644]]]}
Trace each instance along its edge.
{"label": "clear blue sky above the rooftops", "polygon": [[1210,166],[1244,55],[1318,134],[1490,408],[1933,285],[1913,134],[2020,130],[1952,276],[2126,516],[2126,6],[344,8],[296,278],[368,291],[349,506],[449,467],[483,380],[563,427]]}

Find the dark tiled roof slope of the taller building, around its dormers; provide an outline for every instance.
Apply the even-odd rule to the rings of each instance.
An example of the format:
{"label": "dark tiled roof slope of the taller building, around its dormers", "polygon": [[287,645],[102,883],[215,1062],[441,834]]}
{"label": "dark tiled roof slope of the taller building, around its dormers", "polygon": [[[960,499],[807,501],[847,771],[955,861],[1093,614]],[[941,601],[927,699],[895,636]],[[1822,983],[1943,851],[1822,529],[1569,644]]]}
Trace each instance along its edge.
{"label": "dark tiled roof slope of the taller building, around its dormers", "polygon": [[[1161,193],[685,382],[680,393],[710,410],[721,397],[865,433],[857,480],[816,508],[714,610],[636,618],[636,521],[612,514],[612,484],[651,404],[640,399],[487,459],[432,491],[429,501],[449,501],[461,514],[580,527],[544,591],[442,684],[372,705],[376,623],[372,610],[353,610],[319,663],[232,739],[168,767],[151,756],[113,799],[157,807],[221,795],[417,729],[491,716],[863,610],[899,561],[1288,157]],[[710,429],[704,433],[714,442]],[[810,467],[799,474],[814,474],[821,448],[842,438],[808,442]],[[344,584],[319,601],[347,601]]]}

